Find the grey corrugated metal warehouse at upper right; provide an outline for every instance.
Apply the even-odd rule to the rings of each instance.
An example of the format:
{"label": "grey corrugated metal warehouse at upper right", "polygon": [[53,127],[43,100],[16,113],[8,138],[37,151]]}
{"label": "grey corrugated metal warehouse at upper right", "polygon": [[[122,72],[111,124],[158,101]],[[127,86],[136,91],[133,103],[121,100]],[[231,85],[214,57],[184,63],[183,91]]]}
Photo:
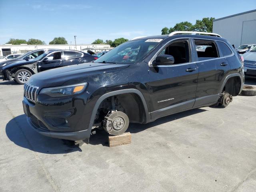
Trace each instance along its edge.
{"label": "grey corrugated metal warehouse at upper right", "polygon": [[236,48],[242,44],[256,44],[256,10],[215,19],[212,31]]}

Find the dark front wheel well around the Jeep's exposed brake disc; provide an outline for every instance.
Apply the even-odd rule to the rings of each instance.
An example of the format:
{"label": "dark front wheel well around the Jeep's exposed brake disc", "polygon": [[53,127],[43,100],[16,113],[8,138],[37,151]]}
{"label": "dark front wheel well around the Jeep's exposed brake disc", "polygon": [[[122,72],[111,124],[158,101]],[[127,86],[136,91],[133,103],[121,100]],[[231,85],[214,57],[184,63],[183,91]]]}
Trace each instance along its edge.
{"label": "dark front wheel well around the Jeep's exposed brake disc", "polygon": [[115,109],[124,112],[129,117],[130,122],[146,122],[146,112],[140,96],[135,93],[125,93],[105,98],[97,110],[94,124],[101,123],[104,117],[112,110],[112,97],[114,97]]}

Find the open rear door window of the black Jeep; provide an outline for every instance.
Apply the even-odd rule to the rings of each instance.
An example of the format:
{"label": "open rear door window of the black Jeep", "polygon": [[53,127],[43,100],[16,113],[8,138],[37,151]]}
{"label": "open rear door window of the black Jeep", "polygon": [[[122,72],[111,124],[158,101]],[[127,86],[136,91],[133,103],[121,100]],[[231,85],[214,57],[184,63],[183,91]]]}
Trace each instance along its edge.
{"label": "open rear door window of the black Jeep", "polygon": [[195,40],[198,60],[218,58],[218,51],[213,41]]}

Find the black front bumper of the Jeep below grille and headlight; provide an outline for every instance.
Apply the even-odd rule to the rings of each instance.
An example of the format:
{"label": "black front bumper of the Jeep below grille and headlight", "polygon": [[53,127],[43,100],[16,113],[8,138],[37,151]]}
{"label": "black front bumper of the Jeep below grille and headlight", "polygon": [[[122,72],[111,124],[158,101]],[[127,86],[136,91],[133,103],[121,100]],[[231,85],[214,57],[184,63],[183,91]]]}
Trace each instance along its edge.
{"label": "black front bumper of the Jeep below grille and headlight", "polygon": [[[22,103],[28,124],[38,133],[66,140],[90,138],[89,113],[83,94],[66,100],[45,99],[44,102],[30,102],[24,97]],[[42,97],[41,97],[42,99]]]}

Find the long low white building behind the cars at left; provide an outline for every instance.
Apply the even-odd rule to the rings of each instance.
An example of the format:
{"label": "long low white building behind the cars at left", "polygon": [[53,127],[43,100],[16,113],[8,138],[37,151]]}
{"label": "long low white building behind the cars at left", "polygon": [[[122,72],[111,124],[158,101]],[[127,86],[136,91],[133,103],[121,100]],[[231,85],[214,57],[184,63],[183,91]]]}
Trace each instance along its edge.
{"label": "long low white building behind the cars at left", "polygon": [[12,44],[4,44],[0,45],[0,56],[6,56],[8,54],[13,53],[26,53],[36,49],[64,49],[64,50],[78,50],[82,52],[87,52],[87,50],[91,50],[93,52],[101,52],[101,51],[109,51],[110,45],[107,44],[82,44],[82,45],[12,45]]}

